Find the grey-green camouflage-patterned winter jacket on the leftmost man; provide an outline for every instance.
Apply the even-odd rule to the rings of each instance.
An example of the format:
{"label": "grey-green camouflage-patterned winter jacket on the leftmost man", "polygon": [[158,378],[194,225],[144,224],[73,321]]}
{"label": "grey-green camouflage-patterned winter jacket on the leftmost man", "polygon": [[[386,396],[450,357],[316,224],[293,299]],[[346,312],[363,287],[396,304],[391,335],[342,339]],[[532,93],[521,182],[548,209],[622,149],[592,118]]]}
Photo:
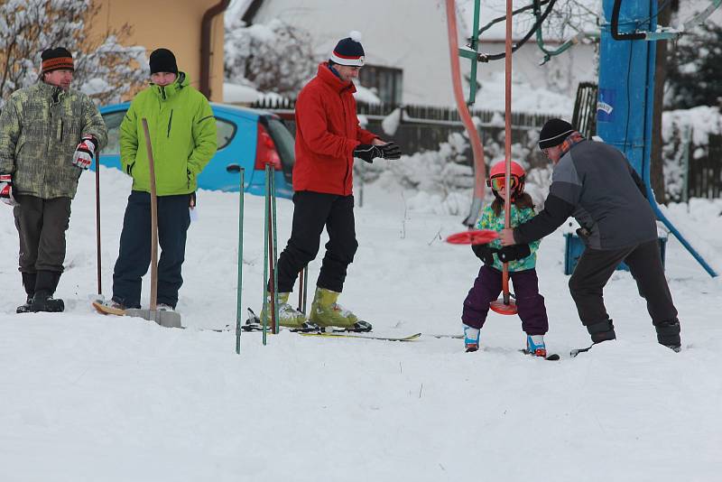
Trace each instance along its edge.
{"label": "grey-green camouflage-patterned winter jacket on the leftmost man", "polygon": [[106,144],[103,117],[85,94],[42,81],[17,90],[0,114],[0,174],[13,175],[18,194],[73,198],[82,172],[73,153],[85,134]]}

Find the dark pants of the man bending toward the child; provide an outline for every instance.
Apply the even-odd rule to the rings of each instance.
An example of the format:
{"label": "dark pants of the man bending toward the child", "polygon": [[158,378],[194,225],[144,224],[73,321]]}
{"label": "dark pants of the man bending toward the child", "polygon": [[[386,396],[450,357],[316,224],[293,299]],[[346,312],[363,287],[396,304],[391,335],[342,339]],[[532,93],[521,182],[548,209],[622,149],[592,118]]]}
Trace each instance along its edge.
{"label": "dark pants of the man bending toward the child", "polygon": [[606,313],[602,290],[621,262],[637,283],[639,294],[647,301],[657,339],[663,345],[680,345],[680,324],[664,277],[662,255],[656,239],[623,249],[585,249],[569,278],[569,292],[577,304],[579,319],[587,327],[592,341],[615,338],[614,326]]}

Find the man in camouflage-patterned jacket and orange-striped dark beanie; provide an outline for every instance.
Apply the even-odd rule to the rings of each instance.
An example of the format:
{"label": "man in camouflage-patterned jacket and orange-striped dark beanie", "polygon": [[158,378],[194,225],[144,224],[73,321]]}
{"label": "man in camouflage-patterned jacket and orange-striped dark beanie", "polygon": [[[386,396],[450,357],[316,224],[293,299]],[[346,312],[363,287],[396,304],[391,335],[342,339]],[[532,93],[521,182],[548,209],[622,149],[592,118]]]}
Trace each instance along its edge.
{"label": "man in camouflage-patterned jacket and orange-striped dark beanie", "polygon": [[10,96],[0,114],[0,200],[14,206],[25,311],[63,311],[52,298],[65,260],[70,201],[98,148],[103,117],[71,90],[73,60],[61,47],[42,52],[41,79]]}

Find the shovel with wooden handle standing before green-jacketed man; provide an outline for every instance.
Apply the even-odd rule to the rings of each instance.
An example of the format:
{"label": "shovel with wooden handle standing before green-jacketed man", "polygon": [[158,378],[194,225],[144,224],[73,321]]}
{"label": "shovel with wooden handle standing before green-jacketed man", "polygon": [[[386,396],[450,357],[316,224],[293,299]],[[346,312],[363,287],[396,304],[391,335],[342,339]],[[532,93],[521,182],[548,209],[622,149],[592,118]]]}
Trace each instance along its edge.
{"label": "shovel with wooden handle standing before green-jacketed man", "polygon": [[153,165],[151,134],[148,131],[148,121],[145,117],[143,117],[142,122],[143,132],[145,133],[145,149],[148,151],[148,167],[151,171],[151,306],[150,310],[131,308],[125,310],[125,314],[155,321],[166,328],[182,328],[179,313],[175,311],[158,311],[156,306],[158,294],[158,199],[155,195],[155,166]]}

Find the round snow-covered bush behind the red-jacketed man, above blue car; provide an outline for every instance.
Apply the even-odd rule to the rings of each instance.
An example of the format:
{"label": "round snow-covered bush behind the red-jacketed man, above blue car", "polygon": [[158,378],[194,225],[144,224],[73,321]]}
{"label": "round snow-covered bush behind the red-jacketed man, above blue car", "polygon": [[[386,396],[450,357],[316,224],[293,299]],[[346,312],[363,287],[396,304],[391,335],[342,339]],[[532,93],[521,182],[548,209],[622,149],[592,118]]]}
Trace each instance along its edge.
{"label": "round snow-covered bush behind the red-jacketed man, above blue car", "polygon": [[310,32],[273,19],[246,27],[226,24],[226,81],[295,98],[316,71]]}

